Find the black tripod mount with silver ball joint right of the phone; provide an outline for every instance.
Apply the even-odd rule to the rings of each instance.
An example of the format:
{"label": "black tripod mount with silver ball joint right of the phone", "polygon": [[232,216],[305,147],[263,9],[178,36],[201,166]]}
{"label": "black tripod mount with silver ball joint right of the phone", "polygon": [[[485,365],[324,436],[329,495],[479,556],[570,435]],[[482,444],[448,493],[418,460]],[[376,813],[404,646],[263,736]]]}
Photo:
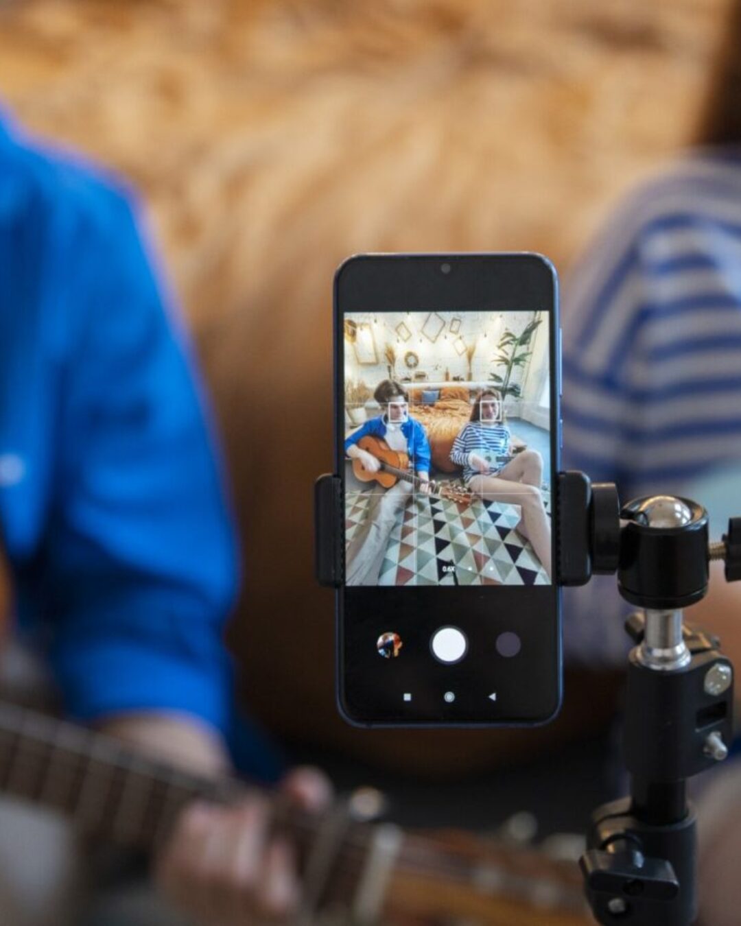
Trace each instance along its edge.
{"label": "black tripod mount with silver ball joint right of the phone", "polygon": [[717,638],[684,626],[683,610],[708,591],[710,560],[741,578],[741,518],[709,544],[708,515],[671,495],[620,507],[612,483],[559,473],[559,584],[617,574],[639,608],[626,622],[624,721],[631,794],[598,807],[580,865],[598,922],[689,926],[697,918],[697,821],[687,781],[728,755],[733,667]]}

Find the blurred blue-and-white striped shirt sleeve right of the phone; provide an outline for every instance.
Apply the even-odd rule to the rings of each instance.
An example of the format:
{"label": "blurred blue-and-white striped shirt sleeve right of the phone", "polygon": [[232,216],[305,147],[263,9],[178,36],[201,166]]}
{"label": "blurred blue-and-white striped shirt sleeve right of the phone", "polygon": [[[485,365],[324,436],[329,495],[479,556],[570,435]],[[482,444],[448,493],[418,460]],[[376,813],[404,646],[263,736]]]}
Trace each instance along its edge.
{"label": "blurred blue-and-white striped shirt sleeve right of the phone", "polygon": [[[656,181],[567,283],[563,465],[616,482],[622,501],[683,494],[741,456],[739,193],[738,166],[733,178],[690,169]],[[614,577],[564,602],[567,657],[622,657],[629,608]]]}

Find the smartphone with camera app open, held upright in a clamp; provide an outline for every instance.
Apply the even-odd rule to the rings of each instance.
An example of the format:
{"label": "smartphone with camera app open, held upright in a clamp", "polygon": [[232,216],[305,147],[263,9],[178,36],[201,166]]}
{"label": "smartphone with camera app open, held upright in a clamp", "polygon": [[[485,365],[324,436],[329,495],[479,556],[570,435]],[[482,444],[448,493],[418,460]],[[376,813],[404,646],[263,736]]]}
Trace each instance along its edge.
{"label": "smartphone with camera app open, held upright in a clamp", "polygon": [[334,389],[345,720],[551,720],[562,676],[553,265],[350,257],[334,278]]}

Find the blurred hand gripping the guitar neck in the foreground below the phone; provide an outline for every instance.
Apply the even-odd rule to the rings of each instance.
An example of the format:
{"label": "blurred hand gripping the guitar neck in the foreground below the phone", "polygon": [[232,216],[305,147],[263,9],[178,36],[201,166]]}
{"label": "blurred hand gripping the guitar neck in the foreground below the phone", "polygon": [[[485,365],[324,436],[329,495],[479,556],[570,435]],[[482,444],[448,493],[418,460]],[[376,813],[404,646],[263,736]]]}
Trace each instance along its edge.
{"label": "blurred hand gripping the guitar neck in the foreground below the phone", "polygon": [[[297,809],[320,812],[332,787],[319,770],[288,774],[281,792]],[[270,836],[264,797],[236,807],[193,804],[183,811],[156,863],[157,883],[203,926],[288,922],[300,900],[295,848]]]}

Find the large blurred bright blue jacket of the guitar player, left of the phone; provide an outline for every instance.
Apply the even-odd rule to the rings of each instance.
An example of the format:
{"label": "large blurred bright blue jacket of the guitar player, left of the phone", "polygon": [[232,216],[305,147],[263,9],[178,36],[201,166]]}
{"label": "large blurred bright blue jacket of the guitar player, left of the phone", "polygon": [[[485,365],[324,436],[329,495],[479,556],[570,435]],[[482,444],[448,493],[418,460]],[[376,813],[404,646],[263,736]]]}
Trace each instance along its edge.
{"label": "large blurred bright blue jacket of the guitar player, left of the phone", "polygon": [[0,117],[0,525],[68,713],[227,732],[232,516],[131,195]]}

